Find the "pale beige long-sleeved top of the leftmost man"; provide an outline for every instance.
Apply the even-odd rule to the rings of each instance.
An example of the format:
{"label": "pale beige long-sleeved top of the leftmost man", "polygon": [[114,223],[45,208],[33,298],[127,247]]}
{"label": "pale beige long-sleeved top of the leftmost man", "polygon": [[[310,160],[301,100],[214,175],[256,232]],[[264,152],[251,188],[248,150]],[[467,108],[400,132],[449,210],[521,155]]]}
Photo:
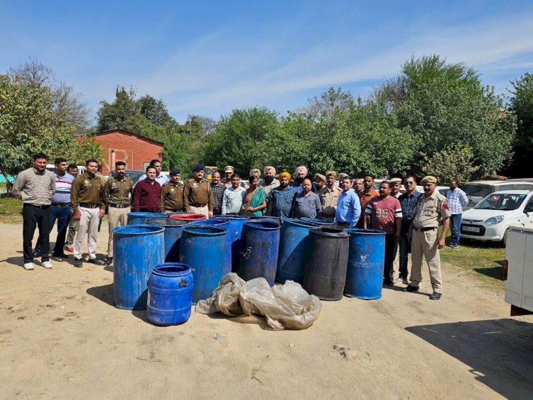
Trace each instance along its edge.
{"label": "pale beige long-sleeved top of the leftmost man", "polygon": [[11,193],[24,204],[50,206],[55,193],[55,178],[46,169],[42,174],[33,167],[24,169],[17,175]]}

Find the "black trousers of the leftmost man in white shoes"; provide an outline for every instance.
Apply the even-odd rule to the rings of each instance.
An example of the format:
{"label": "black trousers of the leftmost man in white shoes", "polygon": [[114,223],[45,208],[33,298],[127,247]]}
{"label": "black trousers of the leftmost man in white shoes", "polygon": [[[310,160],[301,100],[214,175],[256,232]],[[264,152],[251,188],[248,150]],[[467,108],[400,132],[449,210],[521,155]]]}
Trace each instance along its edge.
{"label": "black trousers of the leftmost man in white shoes", "polygon": [[39,233],[43,234],[43,243],[41,244],[41,261],[48,261],[50,257],[50,206],[45,209],[32,206],[31,204],[24,204],[22,209],[22,237],[23,237],[23,255],[24,263],[33,262],[33,252],[31,251],[31,241],[33,240],[33,233],[38,226]]}

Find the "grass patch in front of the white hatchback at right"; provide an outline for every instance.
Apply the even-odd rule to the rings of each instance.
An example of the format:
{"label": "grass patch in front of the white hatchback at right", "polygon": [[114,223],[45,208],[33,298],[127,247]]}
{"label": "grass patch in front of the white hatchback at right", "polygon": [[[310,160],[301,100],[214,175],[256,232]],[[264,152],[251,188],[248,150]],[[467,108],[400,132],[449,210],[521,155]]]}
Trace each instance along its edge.
{"label": "grass patch in front of the white hatchback at right", "polygon": [[[440,229],[439,229],[440,234]],[[448,233],[448,244],[451,242]],[[502,293],[503,260],[505,248],[500,243],[482,241],[461,241],[459,248],[446,246],[441,250],[441,261],[446,265],[464,271],[483,288]]]}

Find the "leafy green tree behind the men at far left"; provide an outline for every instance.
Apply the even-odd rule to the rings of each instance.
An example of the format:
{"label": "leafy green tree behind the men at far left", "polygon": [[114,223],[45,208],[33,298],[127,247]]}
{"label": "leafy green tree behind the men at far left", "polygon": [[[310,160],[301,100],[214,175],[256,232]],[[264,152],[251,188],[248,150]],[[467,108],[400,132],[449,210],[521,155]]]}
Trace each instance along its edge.
{"label": "leafy green tree behind the men at far left", "polygon": [[94,141],[75,139],[76,128],[55,113],[48,88],[0,75],[0,170],[6,181],[8,174],[16,175],[31,165],[31,155],[36,152],[72,162],[85,157],[101,159]]}

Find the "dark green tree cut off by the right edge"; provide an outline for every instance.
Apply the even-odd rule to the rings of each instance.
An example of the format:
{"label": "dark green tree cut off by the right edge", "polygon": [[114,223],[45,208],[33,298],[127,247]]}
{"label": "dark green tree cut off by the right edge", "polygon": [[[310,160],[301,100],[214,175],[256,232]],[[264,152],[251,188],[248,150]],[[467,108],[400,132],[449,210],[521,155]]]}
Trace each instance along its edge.
{"label": "dark green tree cut off by the right edge", "polygon": [[525,73],[511,81],[510,111],[517,117],[517,135],[514,142],[515,159],[510,173],[516,177],[531,177],[533,164],[533,75]]}

